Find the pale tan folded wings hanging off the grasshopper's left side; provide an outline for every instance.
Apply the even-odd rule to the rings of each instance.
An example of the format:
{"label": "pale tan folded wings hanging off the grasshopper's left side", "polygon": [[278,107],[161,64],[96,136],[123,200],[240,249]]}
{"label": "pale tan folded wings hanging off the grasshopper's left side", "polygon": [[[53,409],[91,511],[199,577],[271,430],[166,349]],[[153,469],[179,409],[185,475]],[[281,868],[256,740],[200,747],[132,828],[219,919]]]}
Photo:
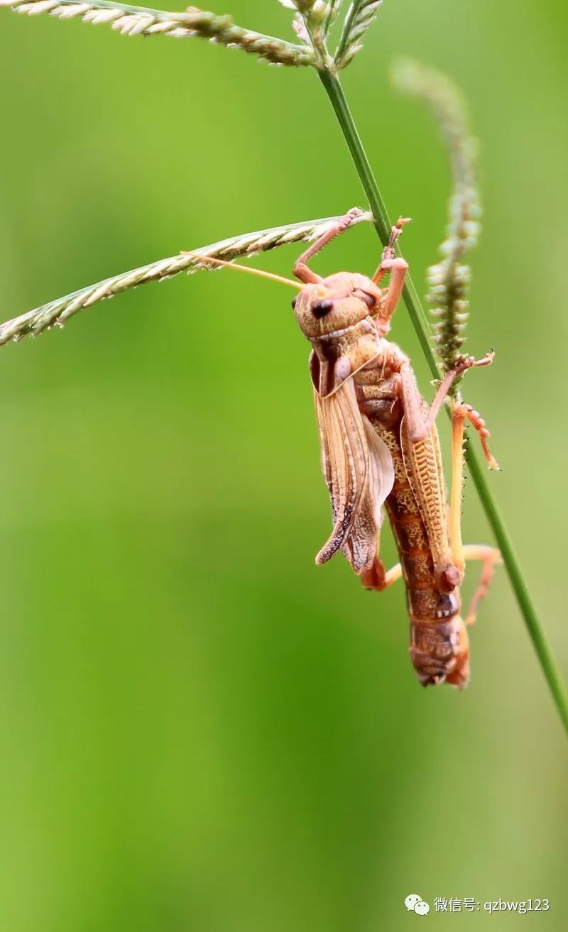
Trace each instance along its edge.
{"label": "pale tan folded wings hanging off the grasshopper's left side", "polygon": [[395,481],[393,459],[359,411],[352,378],[344,379],[326,397],[318,391],[314,395],[334,522],[315,562],[326,563],[341,549],[355,572],[361,573],[377,555],[381,506]]}

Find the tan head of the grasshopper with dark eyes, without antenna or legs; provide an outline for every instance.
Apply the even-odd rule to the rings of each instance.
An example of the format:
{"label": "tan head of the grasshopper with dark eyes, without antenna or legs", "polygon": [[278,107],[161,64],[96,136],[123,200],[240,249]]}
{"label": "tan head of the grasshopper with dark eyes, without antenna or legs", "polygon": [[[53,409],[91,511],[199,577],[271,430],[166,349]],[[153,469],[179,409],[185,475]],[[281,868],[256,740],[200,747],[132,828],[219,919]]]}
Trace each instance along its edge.
{"label": "tan head of the grasshopper with dark eyes, without antenna or legs", "polygon": [[339,272],[303,286],[292,307],[308,339],[353,327],[378,310],[381,289],[365,275]]}

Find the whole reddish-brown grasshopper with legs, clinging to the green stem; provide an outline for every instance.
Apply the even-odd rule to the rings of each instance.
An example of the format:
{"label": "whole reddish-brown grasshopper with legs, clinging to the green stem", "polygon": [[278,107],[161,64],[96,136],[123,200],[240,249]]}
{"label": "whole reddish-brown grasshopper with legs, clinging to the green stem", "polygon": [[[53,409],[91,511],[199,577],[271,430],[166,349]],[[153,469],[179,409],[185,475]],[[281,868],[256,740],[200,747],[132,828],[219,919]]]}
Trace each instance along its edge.
{"label": "whole reddish-brown grasshopper with legs, clinging to the green stem", "polygon": [[[466,369],[491,363],[492,353],[480,360],[464,357],[442,379],[428,408],[409,358],[385,338],[408,268],[394,250],[406,221],[401,219],[393,227],[371,279],[351,272],[322,279],[308,266],[312,256],[358,215],[356,208],[346,213],[294,266],[302,285],[292,304],[304,336],[312,343],[310,373],[334,522],[315,561],[326,563],[341,550],[362,583],[379,591],[403,576],[410,659],[418,678],[423,686],[447,682],[463,688],[469,679],[466,625],[473,624],[478,600],[500,560],[494,547],[462,544],[465,420],[478,431],[490,467],[498,467],[488,447],[485,421],[470,405],[452,404],[447,514],[435,421],[455,378]],[[209,261],[204,258],[205,264]],[[389,286],[381,289],[379,282],[386,274],[390,274]],[[383,505],[400,555],[400,563],[388,572],[379,556]],[[466,559],[481,560],[483,567],[464,620],[459,589]]]}

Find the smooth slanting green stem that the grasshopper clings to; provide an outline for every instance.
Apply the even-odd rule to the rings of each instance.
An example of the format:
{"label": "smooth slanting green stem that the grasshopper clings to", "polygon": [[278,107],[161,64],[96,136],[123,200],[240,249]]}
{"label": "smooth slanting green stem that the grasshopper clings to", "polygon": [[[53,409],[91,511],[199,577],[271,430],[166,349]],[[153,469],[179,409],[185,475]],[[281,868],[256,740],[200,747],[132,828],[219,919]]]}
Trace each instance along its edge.
{"label": "smooth slanting green stem that the grasshopper clings to", "polygon": [[[381,198],[381,192],[370,167],[361,138],[353,122],[353,117],[345,99],[343,89],[339,83],[339,78],[327,71],[320,71],[318,74],[326,89],[327,96],[333,106],[336,117],[338,117],[339,126],[345,138],[345,142],[349,146],[355,168],[375,218],[377,233],[379,234],[382,244],[386,245],[391,234],[392,224],[389,220],[384,201]],[[439,378],[440,372],[430,341],[430,327],[416,288],[409,275],[407,275],[407,285],[403,292],[403,297],[409,309],[410,318],[420,340],[430,370],[434,377]],[[467,463],[476,488],[478,489],[479,500],[487,515],[487,519],[495,535],[495,540],[501,550],[509,580],[515,592],[515,596],[517,597],[522,617],[524,618],[529,632],[529,637],[531,637],[533,641],[534,651],[536,651],[536,655],[547,680],[548,689],[552,693],[561,721],[566,732],[568,732],[568,693],[566,692],[566,687],[561,678],[561,672],[550,650],[547,636],[538,618],[533,603],[533,597],[529,592],[524,574],[520,567],[519,557],[515,552],[506,530],[503,516],[499,511],[497,502],[489,487],[485,467],[481,464],[477,451],[472,448],[471,445],[468,450]]]}

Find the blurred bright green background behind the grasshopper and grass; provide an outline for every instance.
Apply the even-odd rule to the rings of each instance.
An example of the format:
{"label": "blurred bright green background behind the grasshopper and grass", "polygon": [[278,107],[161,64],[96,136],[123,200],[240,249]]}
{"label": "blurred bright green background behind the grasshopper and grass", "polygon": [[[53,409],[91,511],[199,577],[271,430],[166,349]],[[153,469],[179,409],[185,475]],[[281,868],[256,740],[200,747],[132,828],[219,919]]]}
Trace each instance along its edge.
{"label": "blurred bright green background behind the grasshopper and grass", "polygon": [[[291,35],[276,0],[217,8]],[[2,320],[365,204],[312,72],[0,15]],[[561,0],[389,0],[344,78],[390,210],[415,220],[421,287],[449,178],[388,66],[441,67],[470,102],[485,212],[467,345],[497,358],[466,397],[564,674],[567,38]],[[297,254],[257,265],[286,274]],[[361,226],[317,267],[378,255]],[[550,898],[523,927],[565,927],[564,735],[505,573],[460,694],[418,685],[402,588],[369,595],[345,561],[314,567],[329,509],[289,301],[203,273],[2,351],[2,929],[449,927],[407,913],[409,893]],[[394,338],[428,395],[404,309]],[[464,512],[466,541],[491,541],[471,486]]]}

